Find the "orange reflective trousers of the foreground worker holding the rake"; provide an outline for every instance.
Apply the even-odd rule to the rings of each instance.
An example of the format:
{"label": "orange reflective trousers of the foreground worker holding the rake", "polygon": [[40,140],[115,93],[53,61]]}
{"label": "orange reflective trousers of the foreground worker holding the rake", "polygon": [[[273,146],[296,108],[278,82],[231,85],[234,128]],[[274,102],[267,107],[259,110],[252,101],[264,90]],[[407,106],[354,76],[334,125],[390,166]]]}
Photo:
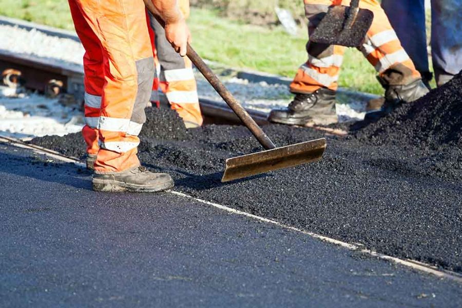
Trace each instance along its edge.
{"label": "orange reflective trousers of the foreground worker holding the rake", "polygon": [[154,61],[142,0],[69,0],[85,48],[87,152],[95,172],[139,166],[138,134],[146,121]]}

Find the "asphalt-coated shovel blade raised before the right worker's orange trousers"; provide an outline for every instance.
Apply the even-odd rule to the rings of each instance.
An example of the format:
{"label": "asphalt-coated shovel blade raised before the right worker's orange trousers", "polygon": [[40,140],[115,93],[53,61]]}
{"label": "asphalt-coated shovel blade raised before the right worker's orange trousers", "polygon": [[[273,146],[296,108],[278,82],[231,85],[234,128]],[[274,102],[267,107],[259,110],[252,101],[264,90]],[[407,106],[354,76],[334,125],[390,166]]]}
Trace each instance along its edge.
{"label": "asphalt-coated shovel blade raised before the right worker's orange trousers", "polygon": [[310,35],[310,40],[328,45],[358,47],[371,27],[373,18],[372,11],[359,8],[359,0],[352,0],[350,7],[330,7]]}

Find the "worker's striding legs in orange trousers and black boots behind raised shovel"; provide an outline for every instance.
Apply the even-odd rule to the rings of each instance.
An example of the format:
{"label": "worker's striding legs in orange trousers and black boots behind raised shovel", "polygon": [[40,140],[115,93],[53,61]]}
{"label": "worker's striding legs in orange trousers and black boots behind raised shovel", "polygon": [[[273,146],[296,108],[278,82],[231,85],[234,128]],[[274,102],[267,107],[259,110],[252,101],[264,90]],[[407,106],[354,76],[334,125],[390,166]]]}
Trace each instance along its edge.
{"label": "worker's striding legs in orange trousers and black boots behind raised shovel", "polygon": [[[349,6],[348,0],[304,0],[308,32],[316,26],[330,6]],[[378,72],[385,89],[386,103],[380,113],[391,111],[399,102],[412,102],[428,92],[420,73],[402,48],[387,16],[376,0],[361,0],[359,7],[374,13],[372,26],[358,49]],[[290,86],[294,100],[284,109],[274,109],[269,120],[291,125],[326,125],[338,121],[335,94],[345,47],[308,41],[308,61],[298,69]],[[360,73],[360,72],[358,72]]]}

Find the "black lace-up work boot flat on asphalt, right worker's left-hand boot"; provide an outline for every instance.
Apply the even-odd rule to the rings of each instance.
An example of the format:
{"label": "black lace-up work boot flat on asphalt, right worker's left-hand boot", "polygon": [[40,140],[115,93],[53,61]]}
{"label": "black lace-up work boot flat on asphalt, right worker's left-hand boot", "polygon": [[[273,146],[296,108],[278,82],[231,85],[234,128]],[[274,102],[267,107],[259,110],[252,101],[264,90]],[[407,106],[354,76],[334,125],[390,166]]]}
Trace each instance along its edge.
{"label": "black lace-up work boot flat on asphalt, right worker's left-hand boot", "polygon": [[309,94],[298,93],[286,108],[271,110],[268,120],[289,125],[337,123],[335,91],[320,88]]}

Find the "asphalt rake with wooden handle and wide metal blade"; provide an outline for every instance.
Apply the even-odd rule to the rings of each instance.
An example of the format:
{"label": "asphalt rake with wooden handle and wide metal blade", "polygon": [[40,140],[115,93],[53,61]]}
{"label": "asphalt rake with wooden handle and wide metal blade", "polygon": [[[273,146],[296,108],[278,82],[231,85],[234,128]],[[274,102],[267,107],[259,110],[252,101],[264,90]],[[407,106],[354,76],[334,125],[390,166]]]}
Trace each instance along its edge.
{"label": "asphalt rake with wooden handle and wide metal blade", "polygon": [[[150,0],[145,0],[145,4],[159,23],[164,25]],[[222,182],[315,162],[322,158],[326,147],[325,138],[277,148],[189,44],[186,55],[266,149],[265,151],[226,159],[226,169],[221,179]]]}

